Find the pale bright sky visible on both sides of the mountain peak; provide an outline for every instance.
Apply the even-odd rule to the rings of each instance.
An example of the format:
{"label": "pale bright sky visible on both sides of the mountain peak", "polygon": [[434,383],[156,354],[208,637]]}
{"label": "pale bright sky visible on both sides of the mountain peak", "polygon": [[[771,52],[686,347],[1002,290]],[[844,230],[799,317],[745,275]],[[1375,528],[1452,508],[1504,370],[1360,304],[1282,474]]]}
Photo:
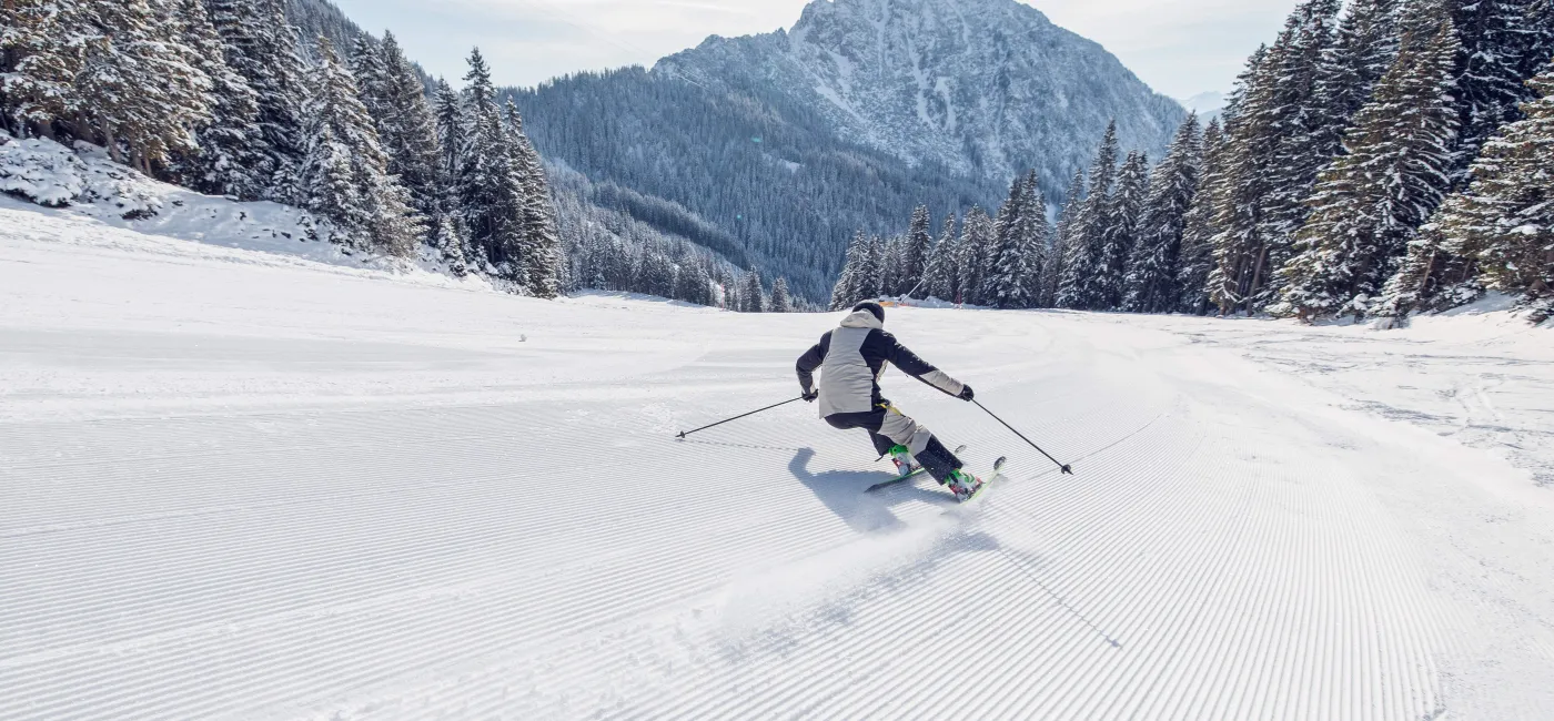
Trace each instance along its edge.
{"label": "pale bright sky visible on both sides of the mountain peak", "polygon": [[[1156,90],[1229,90],[1242,61],[1273,39],[1294,0],[1023,0],[1100,42]],[[357,23],[392,30],[434,75],[455,79],[479,45],[497,81],[533,85],[640,64],[709,34],[788,28],[807,0],[336,0]]]}

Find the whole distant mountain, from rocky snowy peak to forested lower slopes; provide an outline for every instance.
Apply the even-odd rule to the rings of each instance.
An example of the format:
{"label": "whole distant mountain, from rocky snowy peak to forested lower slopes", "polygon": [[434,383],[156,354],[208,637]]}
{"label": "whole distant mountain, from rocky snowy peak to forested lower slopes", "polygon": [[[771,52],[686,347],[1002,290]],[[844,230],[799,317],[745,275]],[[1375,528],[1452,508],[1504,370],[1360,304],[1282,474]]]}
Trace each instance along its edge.
{"label": "whole distant mountain, from rocky snowy peak to forested lower slopes", "polygon": [[996,208],[1030,168],[1057,204],[1111,118],[1124,148],[1159,157],[1184,117],[1015,0],[819,0],[793,33],[514,96],[545,157],[688,210],[816,300],[859,228],[901,233],[918,204],[936,227]]}

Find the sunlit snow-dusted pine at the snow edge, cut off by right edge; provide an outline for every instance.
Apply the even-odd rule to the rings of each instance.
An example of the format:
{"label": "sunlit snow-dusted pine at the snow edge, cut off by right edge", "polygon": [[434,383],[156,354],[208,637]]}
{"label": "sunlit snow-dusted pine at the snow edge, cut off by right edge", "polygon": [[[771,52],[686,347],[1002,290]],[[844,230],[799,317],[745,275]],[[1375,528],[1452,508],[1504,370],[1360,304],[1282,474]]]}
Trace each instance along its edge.
{"label": "sunlit snow-dusted pine at the snow edge, cut off by right edge", "polygon": [[1521,295],[1535,323],[1554,315],[1554,67],[1528,85],[1542,99],[1524,103],[1524,120],[1484,145],[1473,183],[1450,196],[1409,244],[1382,315],[1465,303],[1481,287]]}

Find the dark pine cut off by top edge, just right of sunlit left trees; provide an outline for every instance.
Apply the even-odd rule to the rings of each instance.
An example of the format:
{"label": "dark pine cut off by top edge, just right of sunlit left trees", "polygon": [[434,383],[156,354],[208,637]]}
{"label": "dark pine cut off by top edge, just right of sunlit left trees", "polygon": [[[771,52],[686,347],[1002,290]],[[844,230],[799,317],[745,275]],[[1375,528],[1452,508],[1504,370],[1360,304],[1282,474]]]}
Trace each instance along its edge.
{"label": "dark pine cut off by top edge, just right of sunlit left trees", "polygon": [[266,179],[263,196],[298,202],[298,169],[303,162],[303,103],[308,99],[306,68],[297,28],[286,22],[281,0],[205,0],[211,25],[221,34],[227,65],[255,92],[261,137],[253,143]]}

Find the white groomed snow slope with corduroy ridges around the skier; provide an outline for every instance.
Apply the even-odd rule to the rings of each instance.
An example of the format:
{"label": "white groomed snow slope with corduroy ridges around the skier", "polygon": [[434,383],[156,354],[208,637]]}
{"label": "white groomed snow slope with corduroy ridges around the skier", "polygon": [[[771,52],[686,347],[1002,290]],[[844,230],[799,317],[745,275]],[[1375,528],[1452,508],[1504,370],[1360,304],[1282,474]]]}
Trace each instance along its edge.
{"label": "white groomed snow slope with corduroy ridges around the skier", "polygon": [[834,315],[413,280],[0,207],[0,718],[1554,718],[1546,329],[894,311],[956,507],[671,438]]}

